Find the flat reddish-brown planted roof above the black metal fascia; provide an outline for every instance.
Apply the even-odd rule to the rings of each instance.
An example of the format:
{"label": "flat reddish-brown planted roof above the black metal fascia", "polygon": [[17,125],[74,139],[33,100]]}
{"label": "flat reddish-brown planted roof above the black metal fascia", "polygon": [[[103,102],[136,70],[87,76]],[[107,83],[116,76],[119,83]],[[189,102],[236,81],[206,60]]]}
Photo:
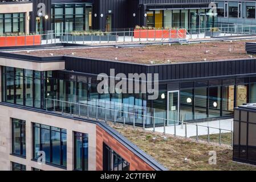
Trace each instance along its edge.
{"label": "flat reddish-brown planted roof above the black metal fascia", "polygon": [[[75,56],[91,59],[124,61],[137,64],[188,63],[195,61],[237,60],[256,57],[245,51],[247,40],[192,44],[165,44],[137,47],[75,47],[15,51],[39,57]],[[251,40],[250,40],[251,42]],[[253,40],[256,42],[256,40]],[[131,45],[130,45],[131,46]]]}

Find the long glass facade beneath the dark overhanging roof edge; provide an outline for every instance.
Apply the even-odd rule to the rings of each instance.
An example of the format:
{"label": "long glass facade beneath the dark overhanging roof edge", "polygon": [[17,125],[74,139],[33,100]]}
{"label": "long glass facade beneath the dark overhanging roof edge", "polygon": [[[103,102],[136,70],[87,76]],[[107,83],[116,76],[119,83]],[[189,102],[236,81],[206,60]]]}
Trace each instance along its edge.
{"label": "long glass facade beneath the dark overhanging roof edge", "polygon": [[[137,126],[163,125],[167,118],[171,125],[231,117],[235,106],[256,102],[255,77],[160,84],[156,100],[147,100],[142,93],[99,94],[97,83],[96,77],[75,73],[3,67],[2,101],[121,123],[135,121]],[[179,86],[171,94],[167,88],[173,84]]]}

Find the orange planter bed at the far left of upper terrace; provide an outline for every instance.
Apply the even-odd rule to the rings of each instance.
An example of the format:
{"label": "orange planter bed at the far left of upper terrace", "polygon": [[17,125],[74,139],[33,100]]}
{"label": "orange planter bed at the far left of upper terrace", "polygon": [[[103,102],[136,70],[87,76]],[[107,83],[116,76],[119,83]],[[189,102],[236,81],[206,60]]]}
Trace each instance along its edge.
{"label": "orange planter bed at the far left of upper terrace", "polygon": [[6,34],[0,36],[0,47],[32,46],[41,44],[41,35]]}

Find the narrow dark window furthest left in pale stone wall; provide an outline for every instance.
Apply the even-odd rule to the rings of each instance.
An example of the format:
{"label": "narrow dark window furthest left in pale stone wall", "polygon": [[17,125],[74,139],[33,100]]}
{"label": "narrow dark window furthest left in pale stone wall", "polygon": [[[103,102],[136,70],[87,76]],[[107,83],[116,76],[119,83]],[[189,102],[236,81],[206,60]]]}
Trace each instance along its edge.
{"label": "narrow dark window furthest left in pale stone wall", "polygon": [[12,119],[13,154],[26,156],[26,121]]}

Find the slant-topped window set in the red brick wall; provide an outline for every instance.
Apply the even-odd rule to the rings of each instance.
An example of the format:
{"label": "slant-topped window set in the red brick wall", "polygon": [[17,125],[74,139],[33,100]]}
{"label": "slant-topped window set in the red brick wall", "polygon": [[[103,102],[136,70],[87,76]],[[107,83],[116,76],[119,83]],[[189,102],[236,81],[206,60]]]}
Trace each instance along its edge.
{"label": "slant-topped window set in the red brick wall", "polygon": [[103,143],[103,170],[129,171],[129,163]]}

